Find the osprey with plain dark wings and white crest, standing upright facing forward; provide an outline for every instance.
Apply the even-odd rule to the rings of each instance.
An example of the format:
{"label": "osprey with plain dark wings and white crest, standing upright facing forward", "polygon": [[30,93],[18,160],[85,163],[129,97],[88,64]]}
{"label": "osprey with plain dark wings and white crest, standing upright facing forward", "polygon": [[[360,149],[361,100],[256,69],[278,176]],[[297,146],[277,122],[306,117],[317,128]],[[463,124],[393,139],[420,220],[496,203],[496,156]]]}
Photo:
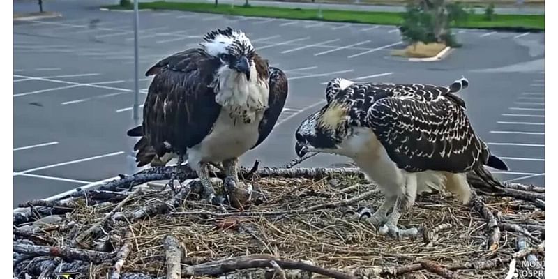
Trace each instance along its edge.
{"label": "osprey with plain dark wings and white crest, standing upright facing forward", "polygon": [[209,200],[215,192],[208,164],[223,163],[238,181],[239,156],[271,133],[287,98],[285,73],[269,67],[245,33],[230,27],[206,33],[200,47],[168,56],[149,75],[155,77],[142,126],[128,130],[141,137],[134,146],[137,165],[165,165],[175,156],[181,165],[187,158]]}

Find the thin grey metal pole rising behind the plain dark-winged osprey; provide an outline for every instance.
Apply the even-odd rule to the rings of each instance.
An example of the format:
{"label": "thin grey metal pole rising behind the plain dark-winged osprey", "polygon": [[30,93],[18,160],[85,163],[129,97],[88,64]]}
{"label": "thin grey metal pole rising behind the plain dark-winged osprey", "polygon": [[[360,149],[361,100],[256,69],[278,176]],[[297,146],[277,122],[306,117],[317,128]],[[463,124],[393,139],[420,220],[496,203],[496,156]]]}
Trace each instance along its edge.
{"label": "thin grey metal pole rising behind the plain dark-winged osprey", "polygon": [[[137,35],[137,29],[140,25],[139,1],[140,0],[134,0],[134,105],[132,107],[132,119],[134,124],[133,127],[140,126],[140,41]],[[134,174],[135,172],[137,172],[137,167],[135,167],[135,153],[133,149],[130,150],[128,163],[130,174]]]}

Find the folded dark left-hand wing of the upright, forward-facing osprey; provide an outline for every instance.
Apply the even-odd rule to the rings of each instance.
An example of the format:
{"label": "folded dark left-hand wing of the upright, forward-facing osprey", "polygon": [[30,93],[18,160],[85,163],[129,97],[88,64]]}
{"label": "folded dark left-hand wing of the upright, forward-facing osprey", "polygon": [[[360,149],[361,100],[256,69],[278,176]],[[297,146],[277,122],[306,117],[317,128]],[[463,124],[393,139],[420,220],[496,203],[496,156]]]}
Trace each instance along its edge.
{"label": "folded dark left-hand wing of the upright, forward-facing osprey", "polygon": [[136,144],[139,165],[150,163],[147,160],[155,155],[183,155],[211,131],[220,105],[209,84],[219,64],[202,50],[190,49],[159,61],[146,72],[155,77],[144,103],[141,144]]}

